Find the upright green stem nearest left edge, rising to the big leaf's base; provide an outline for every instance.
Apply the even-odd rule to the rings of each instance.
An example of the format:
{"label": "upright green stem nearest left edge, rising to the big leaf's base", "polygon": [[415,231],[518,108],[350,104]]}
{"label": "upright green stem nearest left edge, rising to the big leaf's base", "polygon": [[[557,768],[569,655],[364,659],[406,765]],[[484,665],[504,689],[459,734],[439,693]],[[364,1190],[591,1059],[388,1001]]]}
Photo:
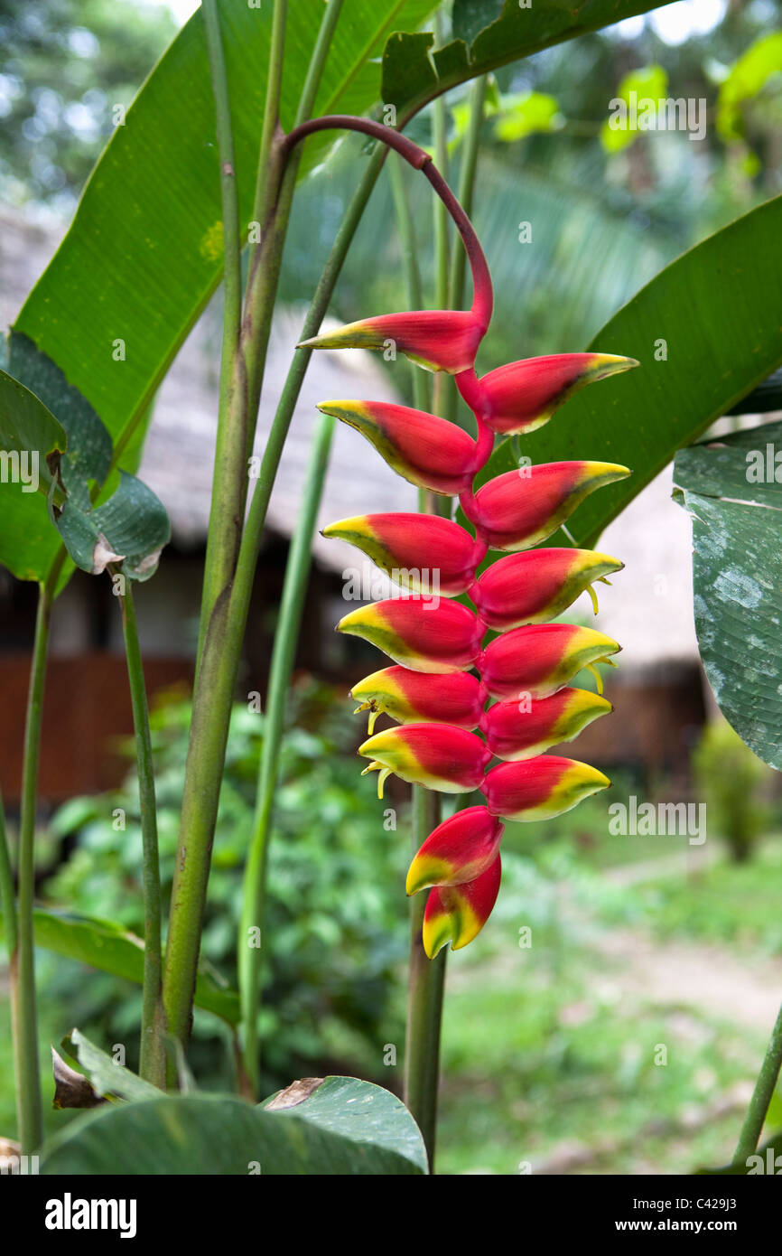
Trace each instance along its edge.
{"label": "upright green stem nearest left edge, rising to the big leaf's base", "polygon": [[[60,564],[62,565],[62,564]],[[30,1156],[43,1139],[40,1074],[38,1060],[38,1007],[35,1001],[35,946],[33,903],[35,897],[35,809],[38,798],[38,764],[40,725],[44,702],[46,653],[53,589],[59,569],[38,594],[33,664],[28,688],[28,713],[24,732],[24,767],[21,779],[21,816],[19,824],[19,906],[16,916],[16,955],[11,961],[11,1001],[15,1029],[14,1055],[16,1066],[16,1110],[21,1154]]]}

